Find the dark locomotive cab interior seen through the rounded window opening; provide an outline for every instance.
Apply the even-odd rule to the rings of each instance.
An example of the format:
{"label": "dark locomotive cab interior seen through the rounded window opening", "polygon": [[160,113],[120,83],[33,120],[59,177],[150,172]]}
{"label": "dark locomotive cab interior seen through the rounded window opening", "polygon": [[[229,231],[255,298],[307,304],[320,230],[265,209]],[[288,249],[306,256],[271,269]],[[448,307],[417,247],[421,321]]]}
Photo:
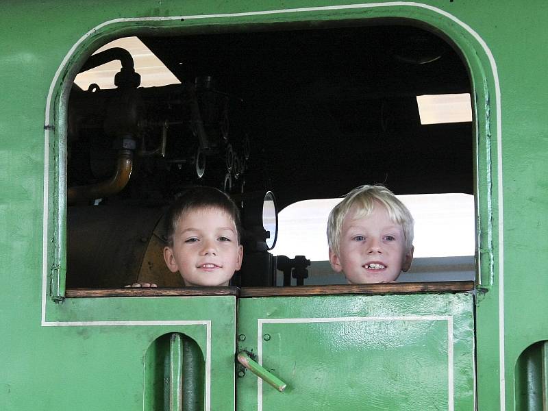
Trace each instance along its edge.
{"label": "dark locomotive cab interior seen through the rounded window opening", "polygon": [[[314,26],[132,38],[158,58],[150,70],[139,68],[142,53],[127,40],[90,57],[69,99],[68,288],[119,288],[136,279],[180,286],[161,256],[162,216],[195,184],[222,188],[240,205],[246,195],[271,190],[279,210],[306,199],[332,201],[365,183],[403,197],[453,192],[473,199],[471,122],[421,123],[417,96],[471,93],[458,53],[425,29]],[[111,60],[110,86],[81,82]],[[149,71],[161,77],[160,65],[174,78],[147,83]],[[275,243],[267,236],[270,206],[257,230],[266,249]],[[303,250],[312,237],[325,249],[325,231],[301,232]],[[282,237],[276,253],[285,247]],[[275,284],[275,260],[249,254],[265,251],[258,242],[244,262],[256,261],[249,269],[264,273],[260,285]],[[246,281],[240,275],[234,284],[259,285]]]}

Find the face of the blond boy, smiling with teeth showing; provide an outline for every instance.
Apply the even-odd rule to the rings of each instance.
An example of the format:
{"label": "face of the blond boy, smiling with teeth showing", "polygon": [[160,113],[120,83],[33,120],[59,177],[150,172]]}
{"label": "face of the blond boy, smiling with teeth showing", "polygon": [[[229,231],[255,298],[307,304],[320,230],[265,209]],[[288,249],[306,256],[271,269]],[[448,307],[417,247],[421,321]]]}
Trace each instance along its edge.
{"label": "face of the blond boy, smiling with teeth showing", "polygon": [[406,250],[403,228],[377,202],[369,216],[358,219],[351,208],[340,232],[339,253],[329,249],[333,269],[343,271],[350,284],[394,282],[409,269],[412,259],[413,249]]}

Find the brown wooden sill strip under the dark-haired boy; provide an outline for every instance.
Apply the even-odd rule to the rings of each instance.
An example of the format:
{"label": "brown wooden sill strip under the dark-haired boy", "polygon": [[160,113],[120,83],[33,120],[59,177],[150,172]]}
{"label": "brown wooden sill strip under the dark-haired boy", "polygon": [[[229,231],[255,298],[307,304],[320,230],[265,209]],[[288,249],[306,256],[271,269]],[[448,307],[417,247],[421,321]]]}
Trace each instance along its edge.
{"label": "brown wooden sill strip under the dark-haired boy", "polygon": [[190,297],[196,295],[236,295],[238,287],[185,287],[185,288],[72,288],[65,297]]}

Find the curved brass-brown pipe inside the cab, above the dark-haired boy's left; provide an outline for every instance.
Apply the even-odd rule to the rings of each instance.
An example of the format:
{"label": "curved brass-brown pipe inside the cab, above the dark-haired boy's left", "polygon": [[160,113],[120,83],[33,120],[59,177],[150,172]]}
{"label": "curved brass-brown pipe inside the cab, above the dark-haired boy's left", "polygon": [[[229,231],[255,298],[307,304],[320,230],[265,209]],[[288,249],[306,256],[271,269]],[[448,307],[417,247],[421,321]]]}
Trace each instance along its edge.
{"label": "curved brass-brown pipe inside the cab, above the dark-haired boy's left", "polygon": [[133,169],[133,151],[123,149],[118,152],[116,172],[110,179],[89,186],[70,187],[66,199],[69,203],[82,200],[95,200],[114,195],[126,186]]}

